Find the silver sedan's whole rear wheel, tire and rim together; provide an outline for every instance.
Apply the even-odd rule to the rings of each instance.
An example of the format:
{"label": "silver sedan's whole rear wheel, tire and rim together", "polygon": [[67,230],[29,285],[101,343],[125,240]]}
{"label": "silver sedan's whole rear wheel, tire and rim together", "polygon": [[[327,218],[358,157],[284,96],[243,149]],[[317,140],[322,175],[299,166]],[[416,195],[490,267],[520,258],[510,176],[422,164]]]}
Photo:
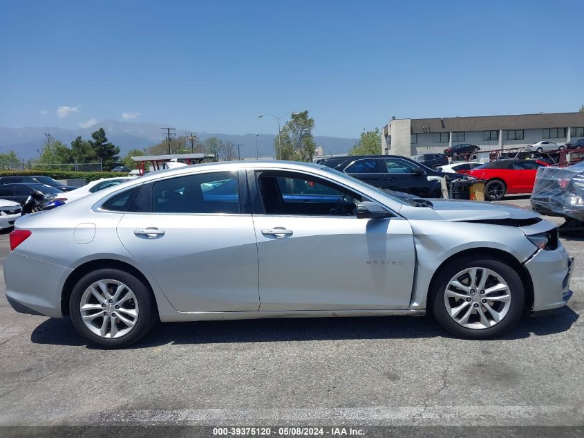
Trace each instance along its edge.
{"label": "silver sedan's whole rear wheel, tire and rim together", "polygon": [[69,313],[75,329],[92,343],[127,347],[156,322],[156,306],[147,286],[117,269],[88,273],[75,285]]}

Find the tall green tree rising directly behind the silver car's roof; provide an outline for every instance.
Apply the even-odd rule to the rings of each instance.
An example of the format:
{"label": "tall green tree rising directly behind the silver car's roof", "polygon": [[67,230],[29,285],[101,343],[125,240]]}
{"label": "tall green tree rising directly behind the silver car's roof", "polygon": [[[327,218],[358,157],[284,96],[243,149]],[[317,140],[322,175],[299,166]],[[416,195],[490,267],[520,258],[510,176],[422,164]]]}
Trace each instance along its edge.
{"label": "tall green tree rising directly behind the silver car's roof", "polygon": [[314,119],[308,117],[308,110],[292,113],[281,133],[274,139],[276,157],[282,160],[305,161],[310,163],[317,145],[312,137]]}

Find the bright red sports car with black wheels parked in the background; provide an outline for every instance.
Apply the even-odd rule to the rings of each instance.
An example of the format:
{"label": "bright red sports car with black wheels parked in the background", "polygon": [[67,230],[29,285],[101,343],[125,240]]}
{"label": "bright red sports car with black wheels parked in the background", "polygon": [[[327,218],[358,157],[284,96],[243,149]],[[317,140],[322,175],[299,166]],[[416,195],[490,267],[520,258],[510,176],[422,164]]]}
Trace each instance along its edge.
{"label": "bright red sports car with black wheels parked in the background", "polygon": [[545,163],[539,160],[500,160],[475,167],[468,174],[486,180],[484,199],[499,201],[505,194],[531,193],[542,166]]}

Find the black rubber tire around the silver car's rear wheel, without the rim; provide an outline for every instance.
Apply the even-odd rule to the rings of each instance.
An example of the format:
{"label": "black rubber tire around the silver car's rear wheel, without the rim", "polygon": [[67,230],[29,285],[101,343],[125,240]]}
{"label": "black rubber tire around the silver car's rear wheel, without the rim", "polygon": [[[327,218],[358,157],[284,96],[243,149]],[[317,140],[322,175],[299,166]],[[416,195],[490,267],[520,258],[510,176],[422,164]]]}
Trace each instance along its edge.
{"label": "black rubber tire around the silver car's rear wheel, without the rim", "polygon": [[[79,311],[82,296],[86,289],[91,286],[91,284],[100,280],[116,280],[128,286],[133,292],[140,308],[133,328],[128,334],[120,336],[119,338],[102,338],[101,336],[94,334],[88,329],[88,327],[86,327],[81,312]],[[108,268],[88,273],[87,275],[84,275],[77,284],[75,284],[73,293],[71,293],[69,300],[69,314],[75,329],[80,335],[84,336],[84,338],[91,343],[106,348],[123,348],[138,342],[138,340],[142,339],[158,321],[156,315],[156,303],[154,302],[154,297],[148,287],[134,275],[118,269]]]}

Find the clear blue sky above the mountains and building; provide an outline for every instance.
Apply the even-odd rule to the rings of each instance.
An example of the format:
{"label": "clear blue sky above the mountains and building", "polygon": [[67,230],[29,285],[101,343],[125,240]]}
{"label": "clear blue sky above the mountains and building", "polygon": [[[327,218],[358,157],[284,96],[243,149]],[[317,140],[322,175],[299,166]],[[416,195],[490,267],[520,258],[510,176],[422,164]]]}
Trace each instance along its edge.
{"label": "clear blue sky above the mountains and building", "polygon": [[[317,135],[577,111],[584,1],[0,0],[0,126]],[[59,109],[60,108],[60,109]]]}

